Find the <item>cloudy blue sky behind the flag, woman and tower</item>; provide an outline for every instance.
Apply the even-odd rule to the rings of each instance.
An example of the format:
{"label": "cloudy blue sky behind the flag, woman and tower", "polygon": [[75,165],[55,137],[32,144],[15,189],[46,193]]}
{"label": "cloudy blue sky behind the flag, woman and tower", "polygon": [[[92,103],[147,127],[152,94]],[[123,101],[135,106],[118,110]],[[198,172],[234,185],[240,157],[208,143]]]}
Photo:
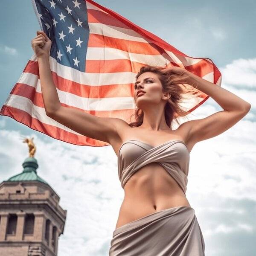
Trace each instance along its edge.
{"label": "cloudy blue sky behind the flag, woman and tower", "polygon": [[[210,58],[221,71],[221,87],[250,102],[250,112],[236,125],[194,146],[186,197],[195,209],[207,256],[252,256],[256,251],[256,2],[96,2],[186,55]],[[31,0],[2,1],[0,106],[33,55],[36,30],[40,26]],[[209,98],[192,112],[193,119],[220,110]],[[34,137],[38,175],[58,193],[61,207],[67,210],[58,255],[108,255],[124,196],[113,148],[64,143],[0,116],[0,182],[22,172],[28,149],[21,136]]]}

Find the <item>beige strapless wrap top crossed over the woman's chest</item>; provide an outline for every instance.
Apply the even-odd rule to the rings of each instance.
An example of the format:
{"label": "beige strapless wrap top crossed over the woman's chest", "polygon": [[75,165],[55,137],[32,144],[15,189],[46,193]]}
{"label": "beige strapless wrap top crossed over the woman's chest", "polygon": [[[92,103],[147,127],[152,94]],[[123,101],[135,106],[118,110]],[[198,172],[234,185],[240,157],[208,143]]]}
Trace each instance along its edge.
{"label": "beige strapless wrap top crossed over the woman's chest", "polygon": [[181,140],[153,147],[139,140],[128,140],[118,152],[118,176],[122,188],[131,176],[149,163],[159,163],[186,193],[189,172],[189,150]]}

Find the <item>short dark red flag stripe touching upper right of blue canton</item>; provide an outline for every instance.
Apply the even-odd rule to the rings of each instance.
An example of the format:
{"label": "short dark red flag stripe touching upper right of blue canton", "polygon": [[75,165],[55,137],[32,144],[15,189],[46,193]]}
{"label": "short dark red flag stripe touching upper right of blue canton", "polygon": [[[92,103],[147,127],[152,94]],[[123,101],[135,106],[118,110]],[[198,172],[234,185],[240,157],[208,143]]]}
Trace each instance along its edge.
{"label": "short dark red flag stripe touching upper right of blue canton", "polygon": [[106,14],[105,12],[101,12],[93,9],[87,9],[87,16],[88,16],[89,23],[102,23],[105,25],[116,26],[123,29],[130,29],[120,20],[117,20],[116,18]]}

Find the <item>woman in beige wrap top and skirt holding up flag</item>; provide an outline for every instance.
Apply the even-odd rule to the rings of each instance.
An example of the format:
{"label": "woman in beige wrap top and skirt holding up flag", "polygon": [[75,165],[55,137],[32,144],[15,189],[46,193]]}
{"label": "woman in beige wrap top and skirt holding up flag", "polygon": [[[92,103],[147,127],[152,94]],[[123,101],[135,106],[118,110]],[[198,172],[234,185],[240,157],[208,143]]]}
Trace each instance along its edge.
{"label": "woman in beige wrap top and skirt holding up flag", "polygon": [[[189,153],[195,143],[235,125],[248,113],[250,104],[183,68],[145,66],[134,84],[136,122],[93,116],[61,106],[49,67],[50,47],[47,35],[37,32],[32,48],[38,57],[47,116],[110,143],[118,157],[125,197],[109,255],[204,256],[204,238],[185,195]],[[178,104],[185,90],[182,83],[211,96],[224,110],[172,130],[175,114],[187,114]]]}

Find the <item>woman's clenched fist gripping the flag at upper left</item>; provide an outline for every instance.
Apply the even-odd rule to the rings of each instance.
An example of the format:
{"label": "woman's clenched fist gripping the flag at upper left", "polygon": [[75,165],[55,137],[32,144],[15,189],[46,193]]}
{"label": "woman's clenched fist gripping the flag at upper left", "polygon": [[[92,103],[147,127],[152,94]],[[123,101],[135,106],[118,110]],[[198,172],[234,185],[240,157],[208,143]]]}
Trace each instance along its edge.
{"label": "woman's clenched fist gripping the flag at upper left", "polygon": [[44,31],[37,31],[37,36],[32,39],[31,46],[35,52],[35,55],[39,58],[46,55],[49,57],[52,41],[44,33]]}

